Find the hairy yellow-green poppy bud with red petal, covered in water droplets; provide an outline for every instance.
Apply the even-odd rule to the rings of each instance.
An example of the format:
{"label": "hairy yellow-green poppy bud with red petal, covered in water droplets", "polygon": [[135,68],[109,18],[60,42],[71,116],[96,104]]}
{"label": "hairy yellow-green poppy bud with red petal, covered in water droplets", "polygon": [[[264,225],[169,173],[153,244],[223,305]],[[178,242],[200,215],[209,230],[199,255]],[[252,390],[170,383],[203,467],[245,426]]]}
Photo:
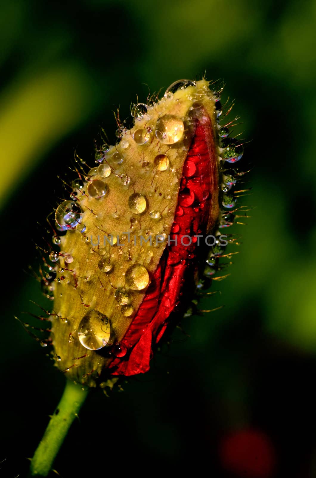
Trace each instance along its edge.
{"label": "hairy yellow-green poppy bud with red petal, covered in water droplets", "polygon": [[233,223],[229,168],[242,146],[218,124],[219,93],[181,80],[148,103],[132,106],[134,126],[119,125],[116,146],[97,148],[95,167],[80,164],[55,213],[65,231],[51,253],[56,363],[89,386],[105,370],[149,369],[167,326],[216,272]]}

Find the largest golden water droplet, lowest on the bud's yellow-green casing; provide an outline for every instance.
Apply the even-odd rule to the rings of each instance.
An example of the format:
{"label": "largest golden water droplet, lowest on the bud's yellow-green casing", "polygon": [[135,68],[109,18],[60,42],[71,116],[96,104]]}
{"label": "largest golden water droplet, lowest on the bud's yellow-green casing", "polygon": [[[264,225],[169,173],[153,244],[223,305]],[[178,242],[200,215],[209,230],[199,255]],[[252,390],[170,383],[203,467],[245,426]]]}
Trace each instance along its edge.
{"label": "largest golden water droplet, lowest on the bud's yellow-green casing", "polygon": [[85,348],[99,350],[110,339],[111,327],[106,315],[91,310],[84,316],[78,327],[78,338]]}

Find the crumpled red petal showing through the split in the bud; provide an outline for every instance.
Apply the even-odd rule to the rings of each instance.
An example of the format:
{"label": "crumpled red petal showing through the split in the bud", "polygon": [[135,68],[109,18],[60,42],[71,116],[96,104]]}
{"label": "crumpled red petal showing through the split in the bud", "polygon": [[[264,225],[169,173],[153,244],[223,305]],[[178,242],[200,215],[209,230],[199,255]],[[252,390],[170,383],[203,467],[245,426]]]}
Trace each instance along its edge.
{"label": "crumpled red petal showing through the split in the bud", "polygon": [[[199,241],[194,236],[208,231],[214,216],[212,207],[215,207],[215,202],[217,207],[218,203],[217,194],[217,152],[211,120],[201,111],[183,165],[170,245],[166,246],[137,315],[121,342],[131,350],[130,354],[117,357],[109,366],[114,369],[113,375],[135,375],[149,369],[152,343],[160,340],[169,324],[169,316],[179,303],[183,283],[189,281],[194,285],[197,265],[193,258],[199,252]],[[177,239],[177,245],[173,239]],[[191,244],[186,245],[190,240]]]}

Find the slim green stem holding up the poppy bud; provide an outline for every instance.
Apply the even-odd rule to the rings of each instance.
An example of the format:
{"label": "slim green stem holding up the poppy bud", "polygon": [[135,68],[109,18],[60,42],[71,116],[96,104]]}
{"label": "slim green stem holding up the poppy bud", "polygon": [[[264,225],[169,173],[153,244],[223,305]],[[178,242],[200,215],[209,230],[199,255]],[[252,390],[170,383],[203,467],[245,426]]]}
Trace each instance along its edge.
{"label": "slim green stem holding up the poppy bud", "polygon": [[88,394],[80,385],[66,380],[65,390],[31,462],[31,476],[46,477],[53,461],[63,444],[70,425],[80,410]]}

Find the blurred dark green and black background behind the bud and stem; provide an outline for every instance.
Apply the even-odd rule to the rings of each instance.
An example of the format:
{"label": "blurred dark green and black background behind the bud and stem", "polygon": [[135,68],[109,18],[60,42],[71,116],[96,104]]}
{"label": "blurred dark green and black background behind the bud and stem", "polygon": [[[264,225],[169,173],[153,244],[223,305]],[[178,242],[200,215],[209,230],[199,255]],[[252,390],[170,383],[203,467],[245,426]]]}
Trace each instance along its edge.
{"label": "blurred dark green and black background behind the bud and stem", "polygon": [[29,299],[49,306],[23,270],[38,269],[34,244],[63,194],[56,175],[74,148],[93,164],[98,126],[115,141],[112,111],[126,118],[145,84],[153,92],[205,70],[236,98],[251,140],[253,195],[241,204],[255,209],[233,227],[241,253],[212,286],[221,295],[202,303],[225,307],[186,319],[190,338],[176,331],[124,392],[91,393],[55,468],[64,478],[247,476],[225,474],[218,445],[253,429],[274,448],[271,476],[316,476],[315,19],[304,0],[1,2],[3,476],[25,476],[63,390],[13,318],[38,313]]}

